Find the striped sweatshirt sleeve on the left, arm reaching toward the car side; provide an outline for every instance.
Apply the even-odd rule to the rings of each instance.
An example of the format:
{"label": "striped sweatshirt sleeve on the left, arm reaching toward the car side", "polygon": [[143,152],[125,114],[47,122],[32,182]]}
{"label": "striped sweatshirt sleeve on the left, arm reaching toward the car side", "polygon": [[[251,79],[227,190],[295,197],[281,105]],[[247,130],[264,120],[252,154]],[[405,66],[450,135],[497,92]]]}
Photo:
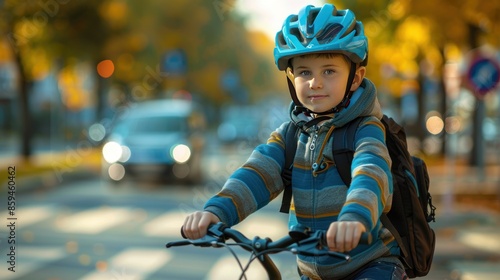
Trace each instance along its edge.
{"label": "striped sweatshirt sleeve on the left, arm reaching toward the car side", "polygon": [[233,226],[279,195],[283,190],[281,170],[285,162],[283,129],[284,124],[271,133],[266,144],[255,148],[221,191],[206,202],[205,211]]}

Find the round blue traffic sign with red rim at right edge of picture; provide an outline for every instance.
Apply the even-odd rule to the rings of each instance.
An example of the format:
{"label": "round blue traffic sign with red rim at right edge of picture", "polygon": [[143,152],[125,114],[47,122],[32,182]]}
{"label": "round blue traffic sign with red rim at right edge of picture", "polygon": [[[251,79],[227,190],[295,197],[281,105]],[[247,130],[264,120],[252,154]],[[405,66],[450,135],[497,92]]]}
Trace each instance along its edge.
{"label": "round blue traffic sign with red rim at right edge of picture", "polygon": [[500,82],[500,66],[492,58],[478,57],[469,66],[467,80],[474,93],[484,97]]}

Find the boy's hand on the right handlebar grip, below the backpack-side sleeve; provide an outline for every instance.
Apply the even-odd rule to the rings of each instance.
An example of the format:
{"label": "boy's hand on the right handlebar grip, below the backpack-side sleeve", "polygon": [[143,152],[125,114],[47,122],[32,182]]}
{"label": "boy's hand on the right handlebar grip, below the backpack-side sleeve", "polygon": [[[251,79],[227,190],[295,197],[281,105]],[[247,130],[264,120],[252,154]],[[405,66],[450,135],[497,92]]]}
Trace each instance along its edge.
{"label": "boy's hand on the right handlebar grip, below the backpack-side sleeve", "polygon": [[361,234],[366,231],[360,222],[333,222],[326,232],[328,248],[335,252],[348,252],[359,244]]}

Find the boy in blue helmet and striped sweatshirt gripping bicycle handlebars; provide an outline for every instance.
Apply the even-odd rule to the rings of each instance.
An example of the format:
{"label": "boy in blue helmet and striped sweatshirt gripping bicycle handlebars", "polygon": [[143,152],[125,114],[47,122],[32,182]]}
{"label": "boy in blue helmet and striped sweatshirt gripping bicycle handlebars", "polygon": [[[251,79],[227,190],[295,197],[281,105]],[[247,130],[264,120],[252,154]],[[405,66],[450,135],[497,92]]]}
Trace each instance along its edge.
{"label": "boy in blue helmet and striped sweatshirt gripping bicycle handlebars", "polygon": [[[302,129],[293,164],[290,225],[326,230],[329,249],[351,256],[346,263],[299,255],[302,279],[407,279],[397,243],[379,219],[391,207],[391,159],[376,89],[365,78],[368,43],[363,25],[349,10],[330,4],[307,6],[285,20],[275,43],[275,62],[287,73],[295,104],[292,121]],[[352,181],[346,187],[333,162],[336,139],[331,135],[360,116]],[[183,230],[188,238],[204,236],[208,225],[219,221],[233,226],[283,191],[284,137],[282,125],[204,211],[186,218]],[[374,241],[358,246],[365,231]]]}

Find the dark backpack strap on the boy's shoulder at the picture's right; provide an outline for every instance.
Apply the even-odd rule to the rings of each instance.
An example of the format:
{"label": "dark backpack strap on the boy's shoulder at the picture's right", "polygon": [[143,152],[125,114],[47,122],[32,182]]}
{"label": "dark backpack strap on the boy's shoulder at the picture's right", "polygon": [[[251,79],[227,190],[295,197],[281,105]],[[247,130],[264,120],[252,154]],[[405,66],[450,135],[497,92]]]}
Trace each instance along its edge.
{"label": "dark backpack strap on the boy's shoulder at the picture's right", "polygon": [[342,181],[348,187],[351,185],[351,163],[355,150],[354,137],[362,120],[362,117],[358,117],[333,130],[333,160]]}

